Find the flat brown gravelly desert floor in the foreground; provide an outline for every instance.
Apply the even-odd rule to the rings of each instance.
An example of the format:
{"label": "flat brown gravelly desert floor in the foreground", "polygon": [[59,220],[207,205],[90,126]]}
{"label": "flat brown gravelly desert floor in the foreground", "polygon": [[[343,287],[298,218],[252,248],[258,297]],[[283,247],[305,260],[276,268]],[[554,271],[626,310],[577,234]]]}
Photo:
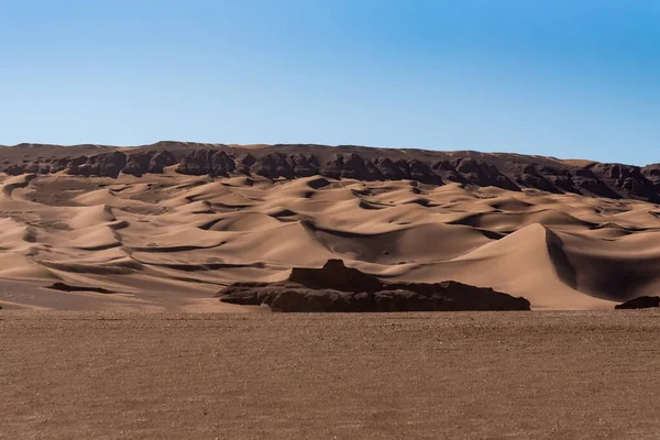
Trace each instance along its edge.
{"label": "flat brown gravelly desert floor in the foreground", "polygon": [[0,437],[657,439],[660,312],[0,314]]}

